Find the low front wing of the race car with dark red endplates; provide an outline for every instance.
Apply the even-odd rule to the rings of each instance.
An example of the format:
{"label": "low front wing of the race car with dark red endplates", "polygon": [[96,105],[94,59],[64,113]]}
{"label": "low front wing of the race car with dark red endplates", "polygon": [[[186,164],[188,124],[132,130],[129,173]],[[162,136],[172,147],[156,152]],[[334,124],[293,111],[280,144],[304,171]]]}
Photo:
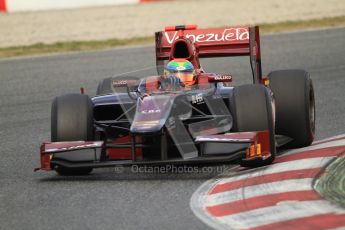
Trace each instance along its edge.
{"label": "low front wing of the race car with dark red endplates", "polygon": [[[41,145],[41,166],[37,170],[54,170],[64,168],[102,168],[131,165],[164,165],[164,164],[201,164],[212,162],[227,162],[235,159],[245,160],[266,159],[271,156],[269,131],[228,133],[207,136],[197,136],[195,143],[200,145],[200,151],[194,158],[144,160],[138,158],[137,149],[143,148],[132,138],[130,144],[109,144],[103,141],[71,141],[45,142]],[[146,146],[147,147],[147,146]],[[123,159],[121,150],[129,148],[129,159]],[[108,150],[113,150],[113,158],[107,156]],[[114,158],[114,151],[119,157]],[[64,160],[59,155],[68,155],[73,160]],[[82,156],[82,157],[80,157]]]}

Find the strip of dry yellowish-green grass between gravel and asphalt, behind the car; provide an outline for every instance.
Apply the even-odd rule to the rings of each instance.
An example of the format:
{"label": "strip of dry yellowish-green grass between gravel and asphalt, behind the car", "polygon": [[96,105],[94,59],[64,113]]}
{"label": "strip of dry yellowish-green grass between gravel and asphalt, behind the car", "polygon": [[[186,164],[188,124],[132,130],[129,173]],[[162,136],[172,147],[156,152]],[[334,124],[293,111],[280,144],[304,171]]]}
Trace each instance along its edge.
{"label": "strip of dry yellowish-green grass between gravel and asphalt, behind the car", "polygon": [[[288,21],[280,23],[260,24],[260,30],[262,33],[275,33],[335,26],[345,26],[345,16],[308,21]],[[148,36],[130,39],[109,39],[103,41],[71,41],[57,42],[54,44],[38,43],[29,46],[0,48],[0,58],[71,51],[99,50],[120,46],[152,44],[153,42],[154,37]]]}

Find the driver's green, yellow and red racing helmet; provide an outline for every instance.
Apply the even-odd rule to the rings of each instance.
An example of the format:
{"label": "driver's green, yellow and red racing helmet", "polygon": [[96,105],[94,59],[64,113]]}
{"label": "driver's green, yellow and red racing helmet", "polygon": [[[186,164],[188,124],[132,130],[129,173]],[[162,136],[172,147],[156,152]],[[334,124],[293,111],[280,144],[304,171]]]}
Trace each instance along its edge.
{"label": "driver's green, yellow and red racing helmet", "polygon": [[178,77],[185,86],[194,85],[196,74],[193,64],[186,59],[174,59],[170,61],[164,70],[166,77]]}

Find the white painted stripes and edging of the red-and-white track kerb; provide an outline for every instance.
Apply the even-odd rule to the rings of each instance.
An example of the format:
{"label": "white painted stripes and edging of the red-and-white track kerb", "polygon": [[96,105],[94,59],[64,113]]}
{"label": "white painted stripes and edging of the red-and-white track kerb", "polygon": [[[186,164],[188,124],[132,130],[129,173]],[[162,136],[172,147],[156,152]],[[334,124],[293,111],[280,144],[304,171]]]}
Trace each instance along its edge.
{"label": "white painted stripes and edging of the red-and-white track kerb", "polygon": [[[318,150],[328,147],[345,146],[345,135],[331,137],[329,139],[320,140],[301,149],[287,151],[283,156],[291,154],[301,154],[305,151]],[[325,142],[326,141],[326,142]],[[321,143],[325,142],[325,143]],[[327,150],[325,150],[327,151]],[[316,201],[287,201],[264,208],[249,210],[242,213],[226,215],[222,217],[214,217],[207,211],[207,207],[224,204],[227,202],[239,201],[248,198],[258,197],[260,195],[279,194],[288,191],[312,190],[313,178],[285,180],[279,182],[264,183],[259,185],[247,186],[244,188],[233,189],[232,191],[224,191],[215,194],[209,194],[217,185],[230,183],[234,181],[246,180],[253,177],[286,172],[291,170],[317,169],[323,168],[336,156],[316,157],[301,160],[292,160],[288,162],[276,163],[265,168],[224,173],[219,179],[211,179],[200,186],[193,194],[190,207],[194,214],[207,225],[215,229],[247,229],[252,227],[265,226],[267,224],[279,223],[282,221],[293,220],[296,218],[311,217],[320,214],[337,214],[345,213],[344,209],[335,206],[325,200]],[[228,177],[228,178],[224,178]],[[344,228],[338,228],[344,229]]]}

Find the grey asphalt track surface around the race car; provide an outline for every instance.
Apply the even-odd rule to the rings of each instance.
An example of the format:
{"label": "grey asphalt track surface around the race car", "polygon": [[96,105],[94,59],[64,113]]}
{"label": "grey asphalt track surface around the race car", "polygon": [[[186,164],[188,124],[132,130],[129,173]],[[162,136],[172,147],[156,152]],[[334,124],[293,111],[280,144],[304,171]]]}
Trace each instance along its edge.
{"label": "grey asphalt track surface around the race car", "polygon": [[[317,139],[345,133],[345,29],[262,37],[264,74],[303,68],[316,92]],[[154,65],[153,47],[0,60],[0,229],[208,229],[192,213],[193,192],[207,173],[116,173],[87,177],[33,172],[50,138],[56,95]],[[247,58],[203,61],[204,69],[250,79]],[[228,165],[231,167],[231,165]]]}

